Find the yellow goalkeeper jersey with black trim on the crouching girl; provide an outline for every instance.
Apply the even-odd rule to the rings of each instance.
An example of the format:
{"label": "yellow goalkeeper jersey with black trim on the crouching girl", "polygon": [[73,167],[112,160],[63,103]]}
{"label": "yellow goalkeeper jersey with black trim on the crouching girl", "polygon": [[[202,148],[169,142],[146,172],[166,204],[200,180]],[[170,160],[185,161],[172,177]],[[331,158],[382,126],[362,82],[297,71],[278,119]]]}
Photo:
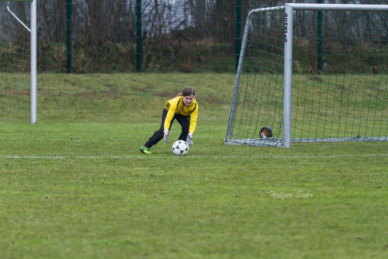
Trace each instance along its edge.
{"label": "yellow goalkeeper jersey with black trim on the crouching girl", "polygon": [[190,106],[185,107],[183,105],[183,96],[177,96],[166,101],[165,109],[168,110],[165,120],[165,129],[170,129],[171,120],[174,117],[174,114],[190,115],[189,132],[194,133],[198,117],[198,104],[195,99],[192,101]]}

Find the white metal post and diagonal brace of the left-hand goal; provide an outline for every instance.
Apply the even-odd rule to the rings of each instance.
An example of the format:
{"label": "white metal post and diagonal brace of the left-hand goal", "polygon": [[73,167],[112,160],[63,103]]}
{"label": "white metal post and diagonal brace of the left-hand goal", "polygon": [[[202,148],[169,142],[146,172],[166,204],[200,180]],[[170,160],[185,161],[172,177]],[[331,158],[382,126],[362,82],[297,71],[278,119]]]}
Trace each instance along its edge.
{"label": "white metal post and diagonal brace of the left-hand goal", "polygon": [[[6,3],[6,10],[4,12],[9,13],[25,30],[30,33],[30,122],[36,123],[36,1],[37,0],[0,0],[0,2]],[[31,2],[29,7],[29,24],[30,28],[26,25],[26,21],[19,19],[17,14],[12,10],[13,2]],[[17,72],[17,71],[11,71]]]}

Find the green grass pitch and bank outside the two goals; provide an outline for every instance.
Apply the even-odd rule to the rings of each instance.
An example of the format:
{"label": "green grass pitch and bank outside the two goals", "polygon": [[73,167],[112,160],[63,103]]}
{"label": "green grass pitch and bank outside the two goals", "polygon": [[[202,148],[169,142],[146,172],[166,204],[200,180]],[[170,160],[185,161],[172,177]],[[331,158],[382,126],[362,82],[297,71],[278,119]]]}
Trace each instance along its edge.
{"label": "green grass pitch and bank outside the two goals", "polygon": [[[38,123],[0,124],[1,258],[388,256],[387,143],[225,146],[233,74],[38,80]],[[140,153],[187,85],[189,153]]]}

